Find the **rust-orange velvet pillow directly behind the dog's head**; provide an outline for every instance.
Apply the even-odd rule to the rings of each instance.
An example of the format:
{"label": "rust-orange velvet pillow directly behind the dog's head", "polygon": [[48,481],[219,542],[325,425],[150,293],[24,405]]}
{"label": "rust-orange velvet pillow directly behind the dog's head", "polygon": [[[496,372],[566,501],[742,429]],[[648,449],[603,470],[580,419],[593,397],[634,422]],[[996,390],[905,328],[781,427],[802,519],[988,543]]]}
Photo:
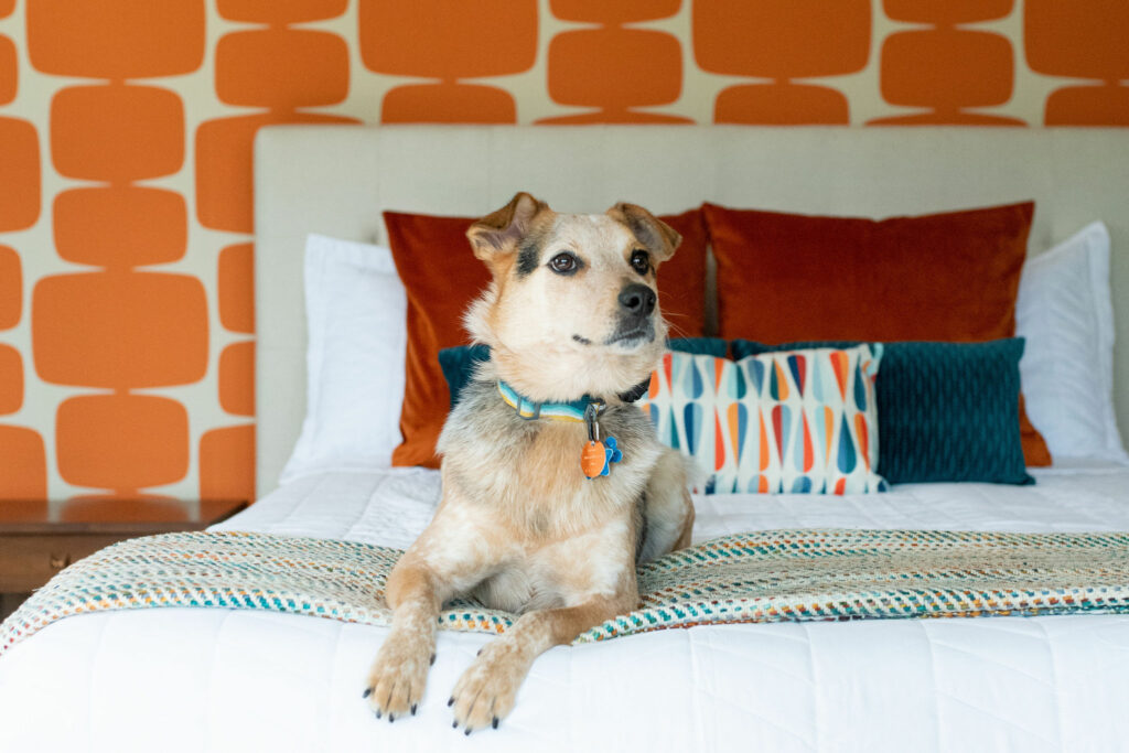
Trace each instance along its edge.
{"label": "rust-orange velvet pillow directly behind the dog's head", "polygon": [[[466,239],[475,219],[384,212],[392,257],[408,290],[403,441],[392,453],[393,465],[439,467],[435,444],[450,405],[439,350],[470,341],[463,312],[490,281]],[[672,336],[700,336],[706,317],[704,220],[697,209],[660,219],[682,235],[677,253],[659,269],[663,313]]]}

